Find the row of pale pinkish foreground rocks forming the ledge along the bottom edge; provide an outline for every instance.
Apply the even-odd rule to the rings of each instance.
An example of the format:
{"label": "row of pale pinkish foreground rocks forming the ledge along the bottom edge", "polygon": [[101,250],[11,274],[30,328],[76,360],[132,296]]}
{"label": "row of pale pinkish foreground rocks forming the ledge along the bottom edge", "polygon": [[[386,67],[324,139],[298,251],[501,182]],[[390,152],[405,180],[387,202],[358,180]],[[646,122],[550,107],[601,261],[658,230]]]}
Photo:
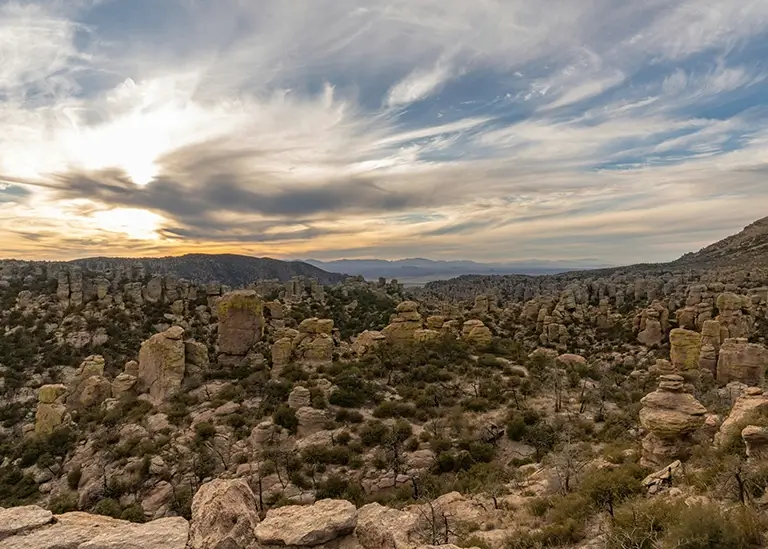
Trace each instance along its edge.
{"label": "row of pale pinkish foreground rocks forming the ledge along the bottom edge", "polygon": [[[260,520],[256,499],[242,479],[203,485],[192,504],[192,520],[170,517],[134,524],[88,513],[54,515],[37,506],[0,508],[0,549],[418,549],[434,547],[441,500],[406,510],[377,503],[360,509],[345,500],[272,509]],[[431,538],[431,539],[430,539]],[[453,545],[442,545],[454,549]],[[456,548],[458,549],[458,548]]]}

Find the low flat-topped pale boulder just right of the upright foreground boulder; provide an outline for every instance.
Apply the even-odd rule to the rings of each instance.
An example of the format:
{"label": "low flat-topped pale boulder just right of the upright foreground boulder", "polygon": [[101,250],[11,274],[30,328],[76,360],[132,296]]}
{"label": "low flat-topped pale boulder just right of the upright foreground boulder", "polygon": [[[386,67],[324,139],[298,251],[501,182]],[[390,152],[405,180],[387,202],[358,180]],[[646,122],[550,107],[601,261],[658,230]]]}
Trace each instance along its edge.
{"label": "low flat-topped pale boulder just right of the upright foreground boulder", "polygon": [[351,534],[357,510],[345,500],[322,499],[313,505],[289,505],[267,511],[256,529],[263,545],[313,547]]}

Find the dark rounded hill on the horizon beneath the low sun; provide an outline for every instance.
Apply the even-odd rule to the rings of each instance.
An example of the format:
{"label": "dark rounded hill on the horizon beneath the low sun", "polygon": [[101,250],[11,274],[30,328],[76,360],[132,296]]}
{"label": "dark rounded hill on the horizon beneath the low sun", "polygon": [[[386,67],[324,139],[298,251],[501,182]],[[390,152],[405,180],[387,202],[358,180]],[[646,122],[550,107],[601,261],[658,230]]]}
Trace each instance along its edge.
{"label": "dark rounded hill on the horizon beneath the low sun", "polygon": [[301,261],[280,261],[268,257],[250,257],[234,254],[187,254],[161,258],[109,258],[77,259],[70,264],[92,271],[114,271],[141,268],[147,274],[174,274],[195,282],[217,281],[242,288],[257,280],[287,282],[296,276],[314,278],[320,284],[335,284],[345,275],[329,273]]}

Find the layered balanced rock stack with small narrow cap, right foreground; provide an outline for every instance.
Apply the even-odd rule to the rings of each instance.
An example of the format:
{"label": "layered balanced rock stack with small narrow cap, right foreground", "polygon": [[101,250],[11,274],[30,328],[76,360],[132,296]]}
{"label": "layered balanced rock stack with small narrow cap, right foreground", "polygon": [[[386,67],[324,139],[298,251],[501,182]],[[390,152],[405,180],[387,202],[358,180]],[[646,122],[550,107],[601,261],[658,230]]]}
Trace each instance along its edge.
{"label": "layered balanced rock stack with small narrow cap, right foreground", "polygon": [[640,424],[648,431],[643,439],[642,462],[649,467],[686,459],[691,437],[704,425],[707,409],[684,392],[683,378],[661,376],[659,388],[643,397]]}

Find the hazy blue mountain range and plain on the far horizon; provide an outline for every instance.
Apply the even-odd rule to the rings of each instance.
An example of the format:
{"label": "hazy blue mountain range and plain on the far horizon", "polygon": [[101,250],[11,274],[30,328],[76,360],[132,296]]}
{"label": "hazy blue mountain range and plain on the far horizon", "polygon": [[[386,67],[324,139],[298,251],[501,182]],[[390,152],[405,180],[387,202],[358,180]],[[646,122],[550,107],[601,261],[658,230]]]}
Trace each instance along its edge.
{"label": "hazy blue mountain range and plain on the far horizon", "polygon": [[543,261],[531,260],[510,263],[477,263],[474,261],[433,261],[423,258],[387,261],[383,259],[340,259],[319,261],[306,259],[306,263],[326,271],[363,276],[368,280],[379,277],[396,278],[405,284],[425,284],[433,280],[462,275],[544,275],[566,271],[608,267],[597,260]]}

